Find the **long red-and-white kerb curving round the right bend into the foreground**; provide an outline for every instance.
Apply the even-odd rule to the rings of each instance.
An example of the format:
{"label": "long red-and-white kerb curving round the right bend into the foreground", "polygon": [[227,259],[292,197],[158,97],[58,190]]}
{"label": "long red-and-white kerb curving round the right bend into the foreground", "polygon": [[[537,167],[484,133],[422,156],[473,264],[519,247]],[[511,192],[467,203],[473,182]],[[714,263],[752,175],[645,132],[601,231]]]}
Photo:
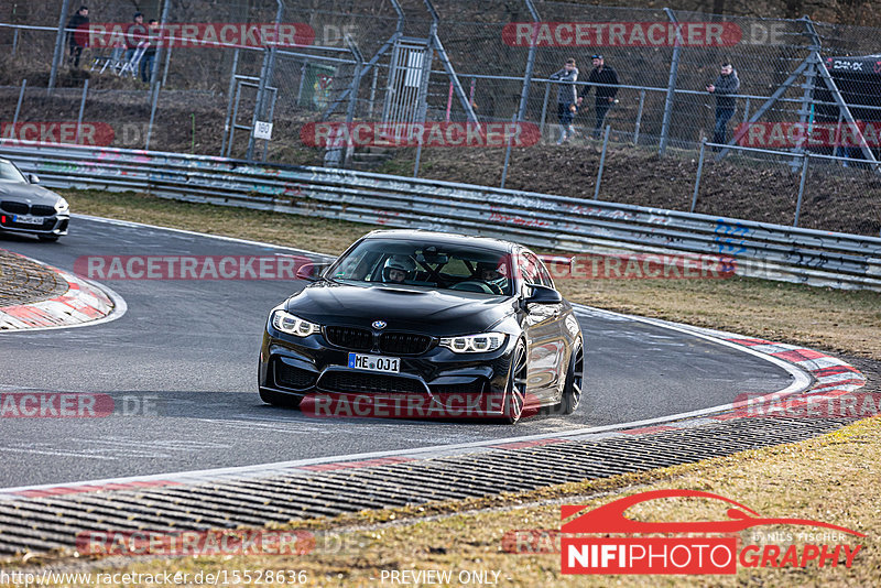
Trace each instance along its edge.
{"label": "long red-and-white kerb curving round the right bend into the foreground", "polygon": [[[585,307],[580,308],[584,309]],[[606,311],[590,309],[590,312],[599,312],[603,315],[617,315],[616,313],[607,313]],[[617,316],[621,318],[626,317],[626,315]],[[813,378],[813,385],[808,385],[812,383],[812,381],[805,380],[804,377],[802,377],[802,379],[796,378],[796,382],[786,388],[784,391],[768,394],[764,398],[797,398],[800,402],[811,402],[811,399],[816,399],[819,401],[826,398],[833,398],[852,392],[866,384],[866,378],[859,372],[859,370],[838,358],[815,351],[813,349],[806,349],[794,345],[775,344],[764,339],[743,338],[742,336],[737,336],[730,333],[679,325],[664,320],[643,317],[628,318],[631,320],[655,324],[675,330],[688,331],[697,337],[716,340],[721,345],[739,347],[746,352],[762,356],[769,361],[779,364],[783,362],[791,364],[790,371],[794,375],[797,373],[807,372]],[[88,492],[122,490],[131,491],[143,488],[157,488],[165,486],[221,483],[224,480],[260,479],[280,475],[308,476],[320,471],[404,464],[423,459],[452,457],[465,454],[530,449],[558,443],[597,440],[606,437],[655,434],[667,431],[694,428],[700,426],[701,424],[715,423],[718,421],[747,417],[747,414],[743,411],[738,411],[738,403],[731,403],[724,406],[716,406],[714,409],[696,411],[694,413],[673,415],[670,417],[655,418],[641,423],[630,423],[629,425],[611,425],[587,429],[556,432],[552,434],[530,435],[503,440],[494,439],[488,442],[466,443],[460,445],[422,447],[416,449],[403,449],[394,451],[376,451],[371,454],[333,456],[325,458],[303,459],[297,461],[218,468],[200,471],[185,471],[177,473],[115,478],[109,480],[74,482],[68,484],[6,488],[0,490],[0,501],[21,500],[23,498],[51,498]],[[719,414],[725,411],[728,412],[725,414]],[[678,420],[674,421],[674,418]]]}

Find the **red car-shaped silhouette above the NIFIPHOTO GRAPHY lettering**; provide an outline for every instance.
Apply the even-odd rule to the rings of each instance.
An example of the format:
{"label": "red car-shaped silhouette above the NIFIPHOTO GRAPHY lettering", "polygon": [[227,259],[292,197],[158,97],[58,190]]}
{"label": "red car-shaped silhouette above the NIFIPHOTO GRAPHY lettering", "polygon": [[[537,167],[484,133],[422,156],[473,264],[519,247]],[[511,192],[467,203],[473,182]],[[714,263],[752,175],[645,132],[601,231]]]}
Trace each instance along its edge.
{"label": "red car-shaped silhouette above the NIFIPHOTO GRAPHY lettering", "polygon": [[[709,498],[728,502],[736,508],[728,509],[728,521],[698,521],[698,522],[643,522],[624,516],[624,511],[634,504],[655,500],[659,498]],[[587,507],[563,507],[562,518],[565,520],[573,514],[584,511]],[[749,514],[748,514],[749,513]],[[809,519],[764,519],[752,511],[725,497],[698,490],[651,490],[631,497],[621,498],[594,509],[576,519],[561,525],[563,533],[737,533],[744,529],[772,524],[790,524],[820,526],[864,537],[866,535],[844,526],[812,521]]]}

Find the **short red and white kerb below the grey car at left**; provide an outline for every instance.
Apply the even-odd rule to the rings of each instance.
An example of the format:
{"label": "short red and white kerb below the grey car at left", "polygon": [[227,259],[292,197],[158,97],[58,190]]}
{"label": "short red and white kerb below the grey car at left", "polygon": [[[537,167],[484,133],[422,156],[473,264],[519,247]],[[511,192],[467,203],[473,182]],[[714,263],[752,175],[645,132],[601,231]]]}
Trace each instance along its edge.
{"label": "short red and white kerb below the grey car at left", "polygon": [[45,301],[0,307],[0,331],[75,327],[124,314],[124,302],[118,295],[72,273],[28,259],[58,274],[67,282],[67,292]]}

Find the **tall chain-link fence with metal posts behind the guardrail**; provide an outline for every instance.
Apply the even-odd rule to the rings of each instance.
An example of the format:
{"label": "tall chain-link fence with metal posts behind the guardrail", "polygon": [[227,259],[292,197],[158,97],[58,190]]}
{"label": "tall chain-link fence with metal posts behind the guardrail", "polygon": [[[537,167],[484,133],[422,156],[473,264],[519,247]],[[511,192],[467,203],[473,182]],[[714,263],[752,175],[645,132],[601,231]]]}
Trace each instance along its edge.
{"label": "tall chain-link fence with metal posts behind the guardrail", "polygon": [[[78,2],[65,14],[57,2],[24,6],[0,10],[8,138],[109,137],[112,146],[881,232],[877,29],[527,0],[250,0],[210,12],[156,0],[139,6],[164,21],[170,41],[143,83],[140,72],[120,75],[119,48],[107,43],[85,48],[78,68],[57,59],[58,39],[63,57],[69,51],[58,22]],[[89,17],[108,30],[128,25],[131,7],[89,2]],[[248,26],[276,23],[292,24],[297,42],[248,36]],[[248,26],[227,43],[227,24]],[[588,83],[594,55],[617,84]],[[569,58],[584,99],[557,145],[565,83],[552,75]],[[740,86],[720,124],[721,101],[707,87],[724,62]],[[262,124],[255,137],[258,123],[271,131]],[[405,130],[389,130],[395,123]]]}

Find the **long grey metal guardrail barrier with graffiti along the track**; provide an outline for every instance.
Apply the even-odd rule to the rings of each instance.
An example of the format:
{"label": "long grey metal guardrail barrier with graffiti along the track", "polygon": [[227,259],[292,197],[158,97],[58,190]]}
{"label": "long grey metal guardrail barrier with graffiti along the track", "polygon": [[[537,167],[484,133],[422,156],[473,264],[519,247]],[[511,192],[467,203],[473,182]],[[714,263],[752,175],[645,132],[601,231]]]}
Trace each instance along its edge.
{"label": "long grey metal guardrail barrier with graffiti along the track", "polygon": [[513,239],[544,249],[694,252],[737,273],[881,291],[881,238],[798,229],[468,184],[178,153],[0,141],[0,155],[51,187],[140,190],[382,225]]}

